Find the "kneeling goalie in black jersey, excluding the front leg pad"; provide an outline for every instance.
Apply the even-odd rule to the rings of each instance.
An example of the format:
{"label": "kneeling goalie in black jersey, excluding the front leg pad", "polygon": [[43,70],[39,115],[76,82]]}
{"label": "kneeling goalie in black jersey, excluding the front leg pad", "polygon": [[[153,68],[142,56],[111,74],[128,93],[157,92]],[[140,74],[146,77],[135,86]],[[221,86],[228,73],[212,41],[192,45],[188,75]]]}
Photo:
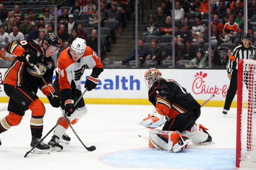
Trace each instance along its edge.
{"label": "kneeling goalie in black jersey, excluding the front leg pad", "polygon": [[[192,143],[212,142],[208,129],[196,124],[201,114],[200,104],[185,88],[172,79],[162,78],[162,73],[156,68],[147,70],[144,78],[149,89],[148,100],[156,108],[138,124],[146,128],[158,128],[164,124],[163,130],[179,131]],[[187,138],[183,139],[186,142]]]}

